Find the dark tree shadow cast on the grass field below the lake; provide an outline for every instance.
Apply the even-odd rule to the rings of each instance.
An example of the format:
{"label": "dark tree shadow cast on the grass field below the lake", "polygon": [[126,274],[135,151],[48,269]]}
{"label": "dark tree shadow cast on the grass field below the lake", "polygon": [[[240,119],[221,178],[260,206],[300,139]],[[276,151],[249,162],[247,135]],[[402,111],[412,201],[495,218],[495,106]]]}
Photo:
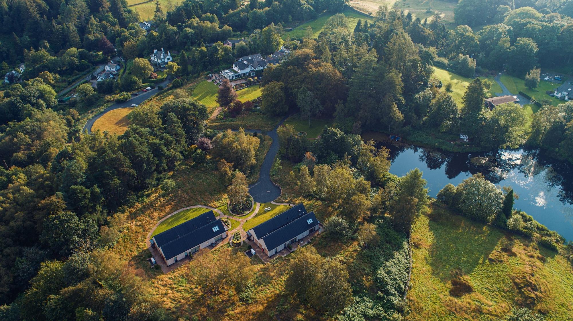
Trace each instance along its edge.
{"label": "dark tree shadow cast on the grass field below the lake", "polygon": [[470,274],[484,264],[503,234],[481,223],[461,216],[448,216],[442,222],[430,220],[434,241],[430,246],[432,274],[444,282],[452,278],[452,271]]}

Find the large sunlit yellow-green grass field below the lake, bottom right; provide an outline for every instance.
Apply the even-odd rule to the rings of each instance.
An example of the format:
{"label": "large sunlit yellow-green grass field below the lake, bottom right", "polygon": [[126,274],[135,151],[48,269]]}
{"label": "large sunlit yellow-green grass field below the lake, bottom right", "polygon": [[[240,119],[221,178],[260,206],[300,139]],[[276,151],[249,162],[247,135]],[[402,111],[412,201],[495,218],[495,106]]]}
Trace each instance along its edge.
{"label": "large sunlit yellow-green grass field below the lake, bottom right", "polygon": [[[570,319],[573,274],[566,258],[446,210],[430,214],[434,219],[422,215],[413,226],[406,320],[500,320],[523,305],[543,312],[545,320]],[[473,292],[449,293],[459,277]],[[535,299],[525,304],[527,298]]]}

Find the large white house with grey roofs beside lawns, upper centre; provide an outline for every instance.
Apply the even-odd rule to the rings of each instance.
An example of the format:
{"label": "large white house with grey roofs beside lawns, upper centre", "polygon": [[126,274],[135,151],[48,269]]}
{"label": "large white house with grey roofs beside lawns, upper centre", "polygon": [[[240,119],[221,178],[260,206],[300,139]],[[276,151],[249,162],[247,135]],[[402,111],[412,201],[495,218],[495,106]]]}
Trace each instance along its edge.
{"label": "large white house with grey roofs beside lawns, upper centre", "polygon": [[223,77],[233,80],[242,77],[254,76],[260,74],[260,71],[265,69],[270,65],[276,65],[280,63],[288,55],[288,50],[281,48],[281,50],[275,51],[274,53],[262,57],[261,54],[253,54],[237,59],[233,63],[232,69],[225,69],[221,71]]}

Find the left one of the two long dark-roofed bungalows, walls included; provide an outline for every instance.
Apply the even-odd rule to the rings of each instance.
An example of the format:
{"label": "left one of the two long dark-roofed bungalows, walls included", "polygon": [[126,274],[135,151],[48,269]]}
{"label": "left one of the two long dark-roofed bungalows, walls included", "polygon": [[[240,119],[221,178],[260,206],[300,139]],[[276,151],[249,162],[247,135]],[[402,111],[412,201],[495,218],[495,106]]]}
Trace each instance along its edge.
{"label": "left one of the two long dark-roofed bungalows, walls included", "polygon": [[167,265],[171,265],[226,236],[225,224],[209,211],[155,235],[150,243],[158,248]]}

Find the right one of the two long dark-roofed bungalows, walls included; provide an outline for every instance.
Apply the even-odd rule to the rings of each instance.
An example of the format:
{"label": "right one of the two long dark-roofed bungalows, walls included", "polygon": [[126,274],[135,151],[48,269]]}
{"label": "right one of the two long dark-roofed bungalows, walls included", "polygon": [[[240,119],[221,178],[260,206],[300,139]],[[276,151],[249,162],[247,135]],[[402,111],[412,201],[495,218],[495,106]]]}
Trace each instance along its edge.
{"label": "right one of the two long dark-roofed bungalows, walls included", "polygon": [[320,222],[314,212],[307,212],[304,205],[299,204],[251,228],[247,231],[247,238],[266,255],[272,256],[319,228]]}

